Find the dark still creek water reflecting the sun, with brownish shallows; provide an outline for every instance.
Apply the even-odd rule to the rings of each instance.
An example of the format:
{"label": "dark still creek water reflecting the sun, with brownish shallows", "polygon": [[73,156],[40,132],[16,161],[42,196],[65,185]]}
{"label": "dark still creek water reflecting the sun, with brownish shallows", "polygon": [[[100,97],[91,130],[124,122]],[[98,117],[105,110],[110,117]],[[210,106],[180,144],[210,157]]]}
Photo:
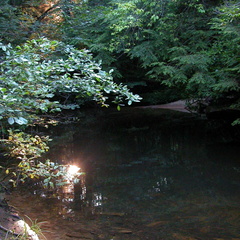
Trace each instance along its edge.
{"label": "dark still creek water reflecting the sun, with brownish shallows", "polygon": [[10,197],[46,221],[47,239],[240,239],[235,130],[188,113],[126,108],[54,131],[51,157],[86,172],[80,190]]}

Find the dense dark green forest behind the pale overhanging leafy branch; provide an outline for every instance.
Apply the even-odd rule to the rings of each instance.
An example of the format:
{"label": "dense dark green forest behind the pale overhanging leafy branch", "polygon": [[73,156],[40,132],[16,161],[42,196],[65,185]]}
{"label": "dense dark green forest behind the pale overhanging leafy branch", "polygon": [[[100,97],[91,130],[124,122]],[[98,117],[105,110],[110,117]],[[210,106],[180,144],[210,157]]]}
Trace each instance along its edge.
{"label": "dense dark green forest behind the pale overhanging leafy branch", "polygon": [[227,0],[4,0],[0,38],[88,49],[142,104],[239,109],[240,3]]}

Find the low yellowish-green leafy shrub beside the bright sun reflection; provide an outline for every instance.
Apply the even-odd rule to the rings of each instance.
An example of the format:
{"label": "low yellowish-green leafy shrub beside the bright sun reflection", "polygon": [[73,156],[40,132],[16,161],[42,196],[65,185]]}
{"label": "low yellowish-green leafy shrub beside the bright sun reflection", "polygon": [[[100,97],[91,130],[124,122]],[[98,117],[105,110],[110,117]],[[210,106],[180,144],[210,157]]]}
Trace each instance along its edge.
{"label": "low yellowish-green leafy shrub beside the bright sun reflection", "polygon": [[[28,179],[36,179],[45,188],[56,188],[69,183],[68,166],[60,165],[50,160],[41,161],[42,155],[48,151],[48,137],[23,132],[9,131],[9,137],[4,140],[8,149],[8,157],[18,159],[17,165],[9,167],[6,173],[11,177],[10,182],[17,186]],[[83,174],[77,172],[73,180]]]}

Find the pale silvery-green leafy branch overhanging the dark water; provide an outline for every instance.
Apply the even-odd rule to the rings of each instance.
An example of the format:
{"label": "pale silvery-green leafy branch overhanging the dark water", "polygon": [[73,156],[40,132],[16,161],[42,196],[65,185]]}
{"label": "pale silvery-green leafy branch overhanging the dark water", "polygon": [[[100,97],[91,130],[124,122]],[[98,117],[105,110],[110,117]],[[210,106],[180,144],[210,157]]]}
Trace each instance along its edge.
{"label": "pale silvery-green leafy branch overhanging the dark water", "polygon": [[1,121],[28,124],[36,113],[78,108],[86,100],[102,106],[140,100],[126,86],[113,82],[111,72],[101,69],[87,50],[46,38],[13,48],[1,45]]}

